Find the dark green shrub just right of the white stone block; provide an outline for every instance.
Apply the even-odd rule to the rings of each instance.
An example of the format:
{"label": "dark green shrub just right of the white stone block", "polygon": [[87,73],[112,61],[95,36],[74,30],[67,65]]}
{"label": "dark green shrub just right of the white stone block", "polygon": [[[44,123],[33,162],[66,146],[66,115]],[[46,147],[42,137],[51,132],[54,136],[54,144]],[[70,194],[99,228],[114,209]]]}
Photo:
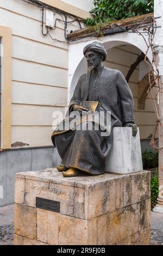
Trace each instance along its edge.
{"label": "dark green shrub just right of the white stone block", "polygon": [[152,169],[158,167],[159,153],[153,152],[152,150],[145,150],[142,153],[143,169]]}

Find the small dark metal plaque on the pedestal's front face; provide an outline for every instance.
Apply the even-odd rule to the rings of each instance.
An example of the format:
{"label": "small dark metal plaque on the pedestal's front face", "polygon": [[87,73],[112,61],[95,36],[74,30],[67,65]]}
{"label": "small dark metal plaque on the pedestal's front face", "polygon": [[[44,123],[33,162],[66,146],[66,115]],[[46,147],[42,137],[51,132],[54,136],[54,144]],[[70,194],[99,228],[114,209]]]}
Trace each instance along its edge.
{"label": "small dark metal plaque on the pedestal's front face", "polygon": [[60,212],[60,202],[49,200],[46,198],[36,197],[36,208]]}

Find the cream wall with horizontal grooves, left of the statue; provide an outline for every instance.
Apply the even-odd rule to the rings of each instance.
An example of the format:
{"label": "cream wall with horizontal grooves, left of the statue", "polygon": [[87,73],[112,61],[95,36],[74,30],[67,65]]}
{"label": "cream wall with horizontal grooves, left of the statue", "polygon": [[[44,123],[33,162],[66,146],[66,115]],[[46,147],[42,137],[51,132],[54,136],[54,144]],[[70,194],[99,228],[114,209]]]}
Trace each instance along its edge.
{"label": "cream wall with horizontal grooves, left of the statue", "polygon": [[[15,142],[52,145],[52,113],[67,102],[68,44],[43,36],[41,18],[34,5],[0,1],[0,26],[12,31],[11,139],[5,148]],[[74,22],[67,30],[77,28]],[[64,23],[58,22],[51,35],[65,41]]]}

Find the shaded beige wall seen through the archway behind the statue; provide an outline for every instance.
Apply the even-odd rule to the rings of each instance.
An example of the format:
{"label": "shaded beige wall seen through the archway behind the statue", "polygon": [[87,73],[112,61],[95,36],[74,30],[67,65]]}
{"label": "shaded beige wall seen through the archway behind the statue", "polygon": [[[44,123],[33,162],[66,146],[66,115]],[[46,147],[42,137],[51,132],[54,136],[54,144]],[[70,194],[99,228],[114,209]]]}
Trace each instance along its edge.
{"label": "shaded beige wall seen through the archway behind the statue", "polygon": [[[104,65],[108,68],[118,69],[122,72],[124,76],[126,76],[130,65],[135,62],[139,54],[140,51],[136,47],[131,45],[111,48],[108,51],[108,57],[104,62]],[[156,123],[156,115],[153,110],[152,102],[149,99],[149,96],[147,97],[145,103],[145,109],[137,109],[139,79],[139,67],[137,67],[133,75],[130,77],[129,86],[134,97],[135,123],[140,128],[141,139],[146,139],[148,138],[148,136],[153,134]],[[156,88],[153,88],[153,92],[156,92]]]}

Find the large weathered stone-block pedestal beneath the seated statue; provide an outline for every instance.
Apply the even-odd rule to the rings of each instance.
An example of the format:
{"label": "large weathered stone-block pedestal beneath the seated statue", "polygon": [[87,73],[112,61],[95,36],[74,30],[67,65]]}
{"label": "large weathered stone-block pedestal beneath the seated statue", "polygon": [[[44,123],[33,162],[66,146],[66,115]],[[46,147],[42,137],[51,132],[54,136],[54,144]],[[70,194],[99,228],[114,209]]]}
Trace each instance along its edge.
{"label": "large weathered stone-block pedestal beneath the seated statue", "polygon": [[[148,171],[74,178],[55,168],[18,173],[14,244],[148,245],[149,181]],[[45,199],[53,202],[40,209],[36,200]]]}

